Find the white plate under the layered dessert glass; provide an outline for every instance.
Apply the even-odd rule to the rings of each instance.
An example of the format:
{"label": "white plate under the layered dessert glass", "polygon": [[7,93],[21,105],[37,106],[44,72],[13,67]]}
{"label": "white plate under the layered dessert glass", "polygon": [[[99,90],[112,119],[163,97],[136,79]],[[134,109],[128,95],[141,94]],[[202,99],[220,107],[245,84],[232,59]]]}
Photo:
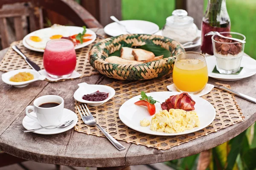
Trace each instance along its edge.
{"label": "white plate under the layered dessert glass", "polygon": [[208,67],[208,75],[209,77],[224,80],[224,81],[235,81],[239,79],[244,79],[246,77],[251,77],[256,74],[256,60],[248,57],[243,56],[241,60],[241,67],[243,67],[242,71],[239,74],[218,74],[212,73],[213,68],[216,65],[216,57],[209,56],[206,57],[207,67]]}

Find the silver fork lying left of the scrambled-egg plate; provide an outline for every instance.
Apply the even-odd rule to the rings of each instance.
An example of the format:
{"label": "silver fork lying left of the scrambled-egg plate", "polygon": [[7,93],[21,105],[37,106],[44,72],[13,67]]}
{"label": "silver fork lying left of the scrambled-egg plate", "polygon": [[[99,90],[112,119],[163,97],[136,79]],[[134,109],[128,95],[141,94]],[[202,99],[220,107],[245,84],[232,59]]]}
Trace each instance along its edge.
{"label": "silver fork lying left of the scrambled-egg plate", "polygon": [[[82,109],[81,106],[83,107],[84,110]],[[84,106],[86,109],[84,108]],[[104,135],[107,137],[107,139],[116,147],[116,149],[118,149],[119,151],[125,150],[125,147],[122,144],[117,142],[116,139],[114,139],[110,134],[108,134],[108,132],[106,132],[106,130],[104,130],[99,124],[96,123],[95,119],[93,118],[93,115],[90,113],[89,109],[87,108],[87,106],[85,104],[79,105],[80,108],[78,107],[78,105],[76,107],[77,107],[85,125],[97,126],[104,133]]]}

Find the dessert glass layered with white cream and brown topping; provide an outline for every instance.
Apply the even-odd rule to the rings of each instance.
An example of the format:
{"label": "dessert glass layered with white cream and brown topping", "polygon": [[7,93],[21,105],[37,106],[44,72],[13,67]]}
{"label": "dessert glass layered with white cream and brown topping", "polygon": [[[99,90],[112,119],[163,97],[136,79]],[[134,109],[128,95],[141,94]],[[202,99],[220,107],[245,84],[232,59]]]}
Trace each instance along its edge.
{"label": "dessert glass layered with white cream and brown topping", "polygon": [[[220,32],[225,37],[233,37],[245,40],[245,36],[236,32]],[[216,68],[221,74],[233,74],[240,70],[241,59],[244,55],[244,44],[219,37],[212,36],[213,54],[216,57]]]}

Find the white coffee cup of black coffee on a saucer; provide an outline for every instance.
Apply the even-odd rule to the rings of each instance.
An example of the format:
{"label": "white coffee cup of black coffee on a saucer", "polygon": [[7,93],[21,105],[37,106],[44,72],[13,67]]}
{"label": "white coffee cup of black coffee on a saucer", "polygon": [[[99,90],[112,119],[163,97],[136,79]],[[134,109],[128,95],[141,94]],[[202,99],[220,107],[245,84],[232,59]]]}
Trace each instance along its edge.
{"label": "white coffee cup of black coffee on a saucer", "polygon": [[[44,103],[51,103],[51,102],[58,103],[59,105],[52,108],[39,107]],[[29,116],[29,118],[34,119],[35,121],[38,121],[42,127],[61,124],[61,116],[63,114],[63,109],[64,109],[64,99],[62,99],[62,97],[56,96],[56,95],[41,96],[35,99],[33,104],[34,106],[27,106],[25,110],[26,115]],[[36,114],[36,117],[32,116],[29,113],[29,110],[34,111]]]}

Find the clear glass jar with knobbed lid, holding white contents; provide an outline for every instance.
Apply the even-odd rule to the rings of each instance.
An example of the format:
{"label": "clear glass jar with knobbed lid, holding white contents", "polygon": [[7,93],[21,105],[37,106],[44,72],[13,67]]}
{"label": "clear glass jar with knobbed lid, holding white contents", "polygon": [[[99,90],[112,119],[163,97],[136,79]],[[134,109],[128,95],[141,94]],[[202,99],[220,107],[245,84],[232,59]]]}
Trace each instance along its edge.
{"label": "clear glass jar with knobbed lid, holding white contents", "polygon": [[197,37],[198,28],[194,19],[187,15],[187,11],[183,9],[174,10],[172,16],[166,18],[166,25],[162,31],[163,36],[181,44],[193,41]]}

